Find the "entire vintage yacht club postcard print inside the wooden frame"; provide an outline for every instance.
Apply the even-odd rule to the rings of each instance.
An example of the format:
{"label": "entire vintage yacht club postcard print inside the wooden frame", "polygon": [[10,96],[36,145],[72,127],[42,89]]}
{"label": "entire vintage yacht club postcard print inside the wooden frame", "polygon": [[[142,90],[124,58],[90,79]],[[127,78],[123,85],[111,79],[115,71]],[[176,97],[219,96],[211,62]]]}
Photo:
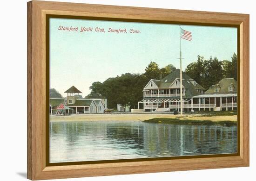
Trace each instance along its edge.
{"label": "entire vintage yacht club postcard print inside the wooden frame", "polygon": [[237,28],[49,19],[49,162],[237,153]]}

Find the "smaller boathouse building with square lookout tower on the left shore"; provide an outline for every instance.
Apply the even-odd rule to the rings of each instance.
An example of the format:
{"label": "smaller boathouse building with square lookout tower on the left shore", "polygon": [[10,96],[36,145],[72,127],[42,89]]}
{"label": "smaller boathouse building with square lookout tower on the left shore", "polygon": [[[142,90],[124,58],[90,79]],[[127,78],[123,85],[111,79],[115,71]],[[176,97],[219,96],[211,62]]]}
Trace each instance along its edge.
{"label": "smaller boathouse building with square lookout tower on the left shore", "polygon": [[74,86],[65,93],[67,93],[66,98],[50,98],[50,114],[104,113],[107,108],[107,99],[80,99],[81,91]]}

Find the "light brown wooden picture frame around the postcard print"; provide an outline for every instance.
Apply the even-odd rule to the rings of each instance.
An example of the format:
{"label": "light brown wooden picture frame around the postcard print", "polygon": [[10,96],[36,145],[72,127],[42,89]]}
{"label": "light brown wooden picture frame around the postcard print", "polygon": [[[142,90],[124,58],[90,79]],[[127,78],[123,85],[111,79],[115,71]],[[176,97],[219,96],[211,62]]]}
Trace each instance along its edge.
{"label": "light brown wooden picture frame around the postcard print", "polygon": [[[238,154],[174,159],[48,166],[47,159],[47,15],[125,21],[236,26],[238,37]],[[40,111],[38,111],[40,110]],[[138,174],[249,166],[249,15],[127,6],[30,1],[27,3],[27,178],[31,180]]]}

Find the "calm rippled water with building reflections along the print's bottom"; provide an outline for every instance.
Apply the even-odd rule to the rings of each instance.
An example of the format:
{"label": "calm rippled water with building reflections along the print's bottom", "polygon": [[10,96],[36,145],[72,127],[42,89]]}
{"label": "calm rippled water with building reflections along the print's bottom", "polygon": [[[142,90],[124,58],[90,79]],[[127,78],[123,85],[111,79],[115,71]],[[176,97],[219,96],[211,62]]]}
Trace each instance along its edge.
{"label": "calm rippled water with building reflections along the print's bottom", "polygon": [[50,162],[236,153],[236,126],[50,123]]}

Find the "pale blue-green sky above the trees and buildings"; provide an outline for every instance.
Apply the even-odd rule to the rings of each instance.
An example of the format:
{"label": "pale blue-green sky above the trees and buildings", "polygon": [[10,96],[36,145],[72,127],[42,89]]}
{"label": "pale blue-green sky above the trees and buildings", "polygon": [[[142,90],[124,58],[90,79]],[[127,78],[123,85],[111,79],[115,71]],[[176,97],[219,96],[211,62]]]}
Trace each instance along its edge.
{"label": "pale blue-green sky above the trees and buildings", "polygon": [[[77,31],[64,30],[71,26]],[[92,31],[81,32],[83,27]],[[181,27],[192,32],[191,42],[181,40],[182,70],[198,55],[231,60],[237,54],[237,28]],[[108,32],[109,28],[126,32]],[[131,29],[139,33],[130,33]],[[50,87],[66,96],[64,92],[75,86],[84,97],[93,82],[142,74],[151,61],[159,68],[171,63],[179,69],[179,33],[179,25],[50,18]]]}

